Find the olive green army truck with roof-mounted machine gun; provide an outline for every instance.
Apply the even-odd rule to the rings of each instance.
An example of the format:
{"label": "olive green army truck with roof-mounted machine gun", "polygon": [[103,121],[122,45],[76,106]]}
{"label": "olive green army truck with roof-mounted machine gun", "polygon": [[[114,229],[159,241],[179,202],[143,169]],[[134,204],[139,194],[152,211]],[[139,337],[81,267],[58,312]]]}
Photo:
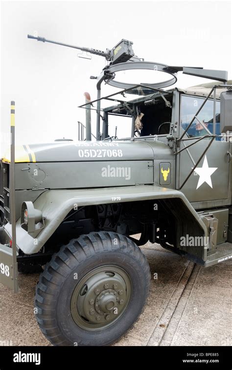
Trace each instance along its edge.
{"label": "olive green army truck with roof-mounted machine gun", "polygon": [[[205,267],[232,258],[227,72],[144,62],[126,40],[105,52],[82,49],[109,62],[97,78],[97,99],[80,106],[88,140],[14,148],[13,135],[11,154],[0,162],[0,283],[17,292],[18,271],[41,271],[35,316],[56,346],[110,345],[133,326],[149,294],[139,249],[147,241]],[[115,81],[125,69],[171,79]],[[164,89],[180,71],[214,81]],[[102,98],[103,81],[122,89]],[[125,100],[130,93],[139,96]],[[116,105],[101,109],[102,99]],[[14,130],[13,102],[11,109]],[[112,115],[128,120],[130,137],[109,135]]]}

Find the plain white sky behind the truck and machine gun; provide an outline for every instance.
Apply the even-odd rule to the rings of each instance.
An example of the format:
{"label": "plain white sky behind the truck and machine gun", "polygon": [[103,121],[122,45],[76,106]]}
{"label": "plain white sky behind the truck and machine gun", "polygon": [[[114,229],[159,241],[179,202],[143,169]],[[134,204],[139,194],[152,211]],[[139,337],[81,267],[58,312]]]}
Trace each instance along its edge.
{"label": "plain white sky behind the truck and machine gun", "polygon": [[[77,121],[85,122],[85,110],[77,108],[84,103],[83,93],[96,98],[96,81],[89,77],[101,72],[104,58],[80,59],[75,49],[27,39],[35,31],[102,50],[124,38],[147,61],[224,69],[232,78],[230,1],[2,1],[0,20],[0,154],[9,141],[11,100],[16,102],[16,141],[30,144],[77,139]],[[133,78],[156,82],[150,74]],[[177,86],[204,82],[210,80],[180,72]],[[111,92],[102,85],[102,95]],[[116,120],[118,135],[126,136],[130,122]],[[92,122],[95,134],[94,114]]]}

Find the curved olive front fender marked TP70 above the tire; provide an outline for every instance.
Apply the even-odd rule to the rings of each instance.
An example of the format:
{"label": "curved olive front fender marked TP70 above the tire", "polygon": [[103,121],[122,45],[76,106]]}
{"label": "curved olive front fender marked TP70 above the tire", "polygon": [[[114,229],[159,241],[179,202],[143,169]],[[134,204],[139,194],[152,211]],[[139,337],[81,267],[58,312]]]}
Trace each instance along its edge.
{"label": "curved olive front fender marked TP70 above the tire", "polygon": [[[34,202],[34,207],[41,210],[43,216],[46,217],[44,229],[39,232],[36,238],[33,238],[23,230],[20,223],[21,220],[18,219],[16,224],[17,247],[25,254],[39,252],[74,207],[164,198],[179,198],[184,203],[186,211],[195,218],[204,234],[207,235],[205,223],[189,203],[186,196],[179,190],[168,189],[157,185],[47,190]],[[9,223],[5,225],[5,229],[9,236],[11,236],[11,225]]]}

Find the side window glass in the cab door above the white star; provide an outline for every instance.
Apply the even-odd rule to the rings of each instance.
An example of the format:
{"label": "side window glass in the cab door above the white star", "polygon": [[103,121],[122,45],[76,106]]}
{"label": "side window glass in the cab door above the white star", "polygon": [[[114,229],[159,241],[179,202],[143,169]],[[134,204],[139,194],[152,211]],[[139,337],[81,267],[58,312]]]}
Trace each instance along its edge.
{"label": "side window glass in the cab door above the white star", "polygon": [[[204,101],[204,98],[198,98],[196,96],[185,96],[181,98],[181,126],[186,130],[188,124],[191,122],[193,116],[200,108]],[[213,133],[213,101],[208,100],[204,107],[197,115],[198,120],[195,118],[190,128],[187,131],[188,137],[200,137],[208,135],[205,130],[203,123],[207,129]],[[200,122],[199,122],[200,121]],[[216,135],[220,135],[220,102],[216,102]],[[217,137],[216,140],[221,140]]]}

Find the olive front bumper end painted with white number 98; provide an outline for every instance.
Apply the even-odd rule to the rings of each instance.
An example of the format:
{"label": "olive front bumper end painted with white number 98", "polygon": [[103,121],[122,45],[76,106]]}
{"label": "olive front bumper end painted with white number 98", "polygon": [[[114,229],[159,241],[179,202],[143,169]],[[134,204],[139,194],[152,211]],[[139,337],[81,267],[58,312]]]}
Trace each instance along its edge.
{"label": "olive front bumper end painted with white number 98", "polygon": [[0,227],[0,283],[18,292],[18,265],[13,263],[9,239],[4,227]]}

